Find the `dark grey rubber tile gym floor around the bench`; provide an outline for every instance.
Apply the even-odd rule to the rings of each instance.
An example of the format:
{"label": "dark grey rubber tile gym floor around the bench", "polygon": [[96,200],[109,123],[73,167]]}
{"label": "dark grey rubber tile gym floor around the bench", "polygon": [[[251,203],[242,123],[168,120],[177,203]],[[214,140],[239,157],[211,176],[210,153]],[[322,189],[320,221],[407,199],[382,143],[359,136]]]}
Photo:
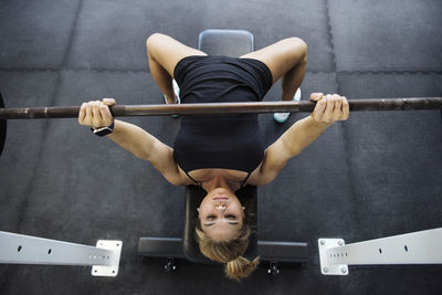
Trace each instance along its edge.
{"label": "dark grey rubber tile gym floor around the bench", "polygon": [[[3,0],[0,91],[8,107],[80,105],[115,97],[159,104],[145,41],[155,32],[196,46],[206,29],[243,29],[261,49],[299,36],[308,44],[302,99],[442,95],[442,2],[298,0]],[[264,101],[277,101],[280,83]],[[261,115],[273,143],[284,125]],[[180,119],[126,118],[173,144]],[[317,239],[346,243],[440,228],[440,110],[352,113],[259,188],[259,236],[307,242],[308,262],[262,265],[242,283],[219,265],[137,256],[140,236],[182,231],[183,188],[98,138],[76,119],[10,120],[0,158],[0,230],[95,245],[122,240],[117,277],[88,266],[1,265],[1,294],[441,294],[439,265],[349,266],[320,274]]]}

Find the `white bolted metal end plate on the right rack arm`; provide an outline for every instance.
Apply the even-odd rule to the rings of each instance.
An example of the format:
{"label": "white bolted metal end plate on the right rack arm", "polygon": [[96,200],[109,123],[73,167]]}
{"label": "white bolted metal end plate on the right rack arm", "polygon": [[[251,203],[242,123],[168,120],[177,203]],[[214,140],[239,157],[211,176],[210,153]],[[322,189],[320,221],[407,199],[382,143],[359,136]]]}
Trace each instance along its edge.
{"label": "white bolted metal end plate on the right rack arm", "polygon": [[[345,241],[343,239],[319,239],[318,240],[320,272],[324,275],[348,275],[348,265],[347,264],[333,264],[329,261],[330,257],[327,255],[328,249],[339,247],[339,246],[344,246],[344,245],[345,245]],[[338,255],[346,255],[346,254],[341,253]]]}

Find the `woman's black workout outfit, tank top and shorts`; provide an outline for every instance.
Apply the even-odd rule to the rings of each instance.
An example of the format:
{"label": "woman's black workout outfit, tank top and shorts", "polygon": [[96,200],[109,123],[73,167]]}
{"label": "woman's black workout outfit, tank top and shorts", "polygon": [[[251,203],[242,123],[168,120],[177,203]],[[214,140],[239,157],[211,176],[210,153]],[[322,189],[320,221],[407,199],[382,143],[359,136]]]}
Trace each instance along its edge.
{"label": "woman's black workout outfit, tank top and shorts", "polygon": [[[225,56],[186,57],[177,64],[175,78],[182,104],[257,102],[272,86],[272,74],[262,62]],[[264,149],[257,114],[189,115],[181,117],[173,157],[186,173],[223,168],[250,176]]]}

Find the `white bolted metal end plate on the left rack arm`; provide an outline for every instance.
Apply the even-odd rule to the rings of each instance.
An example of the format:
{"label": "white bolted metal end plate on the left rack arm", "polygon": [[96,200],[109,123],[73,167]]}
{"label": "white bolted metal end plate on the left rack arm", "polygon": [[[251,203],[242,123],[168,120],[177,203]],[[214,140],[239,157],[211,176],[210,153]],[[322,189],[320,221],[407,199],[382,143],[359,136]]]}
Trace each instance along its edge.
{"label": "white bolted metal end plate on the left rack arm", "polygon": [[98,240],[97,247],[106,249],[114,252],[114,254],[106,259],[110,260],[110,265],[94,265],[92,266],[92,275],[94,276],[117,276],[118,266],[119,266],[119,257],[122,255],[123,241],[114,241],[114,240]]}

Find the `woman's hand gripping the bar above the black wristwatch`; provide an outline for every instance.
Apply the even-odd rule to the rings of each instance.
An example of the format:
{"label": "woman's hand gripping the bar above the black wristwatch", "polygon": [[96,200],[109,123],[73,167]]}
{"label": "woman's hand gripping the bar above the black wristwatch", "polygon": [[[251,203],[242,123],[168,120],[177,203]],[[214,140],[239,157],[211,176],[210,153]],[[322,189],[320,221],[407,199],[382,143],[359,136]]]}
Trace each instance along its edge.
{"label": "woman's hand gripping the bar above the black wristwatch", "polygon": [[109,106],[115,104],[114,98],[103,98],[102,102],[94,101],[82,104],[78,113],[80,125],[91,126],[94,129],[110,126],[114,123],[114,117],[110,114]]}

